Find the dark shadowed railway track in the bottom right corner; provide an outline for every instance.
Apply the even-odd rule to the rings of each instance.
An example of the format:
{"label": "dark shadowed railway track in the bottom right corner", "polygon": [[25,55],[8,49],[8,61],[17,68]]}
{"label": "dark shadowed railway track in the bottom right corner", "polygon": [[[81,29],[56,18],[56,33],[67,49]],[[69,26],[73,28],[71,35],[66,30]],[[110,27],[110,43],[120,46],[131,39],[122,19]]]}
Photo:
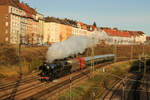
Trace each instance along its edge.
{"label": "dark shadowed railway track in the bottom right corner", "polygon": [[[148,70],[148,69],[147,69]],[[126,100],[149,100],[149,72],[144,72],[144,69],[140,73],[137,73],[136,80],[132,80],[132,87],[128,89],[128,95]]]}

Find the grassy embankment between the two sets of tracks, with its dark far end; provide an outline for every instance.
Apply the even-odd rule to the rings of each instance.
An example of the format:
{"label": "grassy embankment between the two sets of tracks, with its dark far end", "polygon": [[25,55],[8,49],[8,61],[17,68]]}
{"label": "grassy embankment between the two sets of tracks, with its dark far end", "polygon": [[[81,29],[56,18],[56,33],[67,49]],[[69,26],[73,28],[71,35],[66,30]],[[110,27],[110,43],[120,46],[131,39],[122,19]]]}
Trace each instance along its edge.
{"label": "grassy embankment between the two sets of tracks, with its dark far end", "polygon": [[108,87],[119,86],[120,80],[136,73],[138,65],[138,61],[124,61],[100,68],[94,72],[94,77],[61,94],[59,100],[96,100],[105,97]]}

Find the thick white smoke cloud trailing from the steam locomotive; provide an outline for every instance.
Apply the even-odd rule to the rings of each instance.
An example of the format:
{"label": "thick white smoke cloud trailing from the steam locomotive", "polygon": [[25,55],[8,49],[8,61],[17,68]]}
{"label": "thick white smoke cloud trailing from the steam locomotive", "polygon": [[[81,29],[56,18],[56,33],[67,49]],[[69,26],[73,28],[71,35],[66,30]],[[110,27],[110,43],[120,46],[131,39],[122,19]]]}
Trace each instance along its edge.
{"label": "thick white smoke cloud trailing from the steam locomotive", "polygon": [[83,53],[86,48],[94,47],[98,44],[99,36],[71,36],[63,42],[54,43],[49,47],[46,55],[47,62],[55,59],[63,59],[78,53]]}

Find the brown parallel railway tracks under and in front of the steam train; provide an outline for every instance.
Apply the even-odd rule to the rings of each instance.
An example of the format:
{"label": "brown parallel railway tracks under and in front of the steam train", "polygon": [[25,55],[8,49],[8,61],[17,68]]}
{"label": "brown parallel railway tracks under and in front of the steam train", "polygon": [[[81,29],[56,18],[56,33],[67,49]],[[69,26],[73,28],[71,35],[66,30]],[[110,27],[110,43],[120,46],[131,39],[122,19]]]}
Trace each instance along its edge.
{"label": "brown parallel railway tracks under and in front of the steam train", "polygon": [[[120,62],[120,61],[124,61],[124,60],[121,59],[118,62]],[[106,63],[96,65],[95,70],[102,66],[106,66],[106,65],[109,65],[112,63],[113,62],[106,62]],[[78,74],[72,75],[73,77],[71,80],[69,78],[65,79],[65,77],[67,77],[67,76],[65,76],[65,77],[63,77],[63,79],[60,79],[60,80],[64,80],[64,81],[61,81],[60,83],[56,83],[56,84],[53,84],[52,82],[40,83],[40,81],[37,80],[38,77],[30,77],[30,78],[27,78],[24,80],[20,80],[18,89],[14,89],[16,87],[16,85],[18,85],[18,82],[9,83],[9,84],[6,84],[6,85],[0,87],[0,98],[1,98],[1,100],[9,100],[10,98],[16,98],[16,97],[18,98],[17,100],[21,100],[21,99],[28,100],[28,99],[32,99],[32,98],[39,98],[39,97],[43,96],[44,94],[46,94],[47,93],[46,91],[48,91],[48,93],[52,93],[54,90],[57,90],[64,85],[68,85],[68,84],[70,84],[70,82],[76,81],[76,80],[82,78],[83,76],[89,74],[90,73],[89,69],[90,69],[90,67],[87,69],[84,69],[86,71],[81,70],[79,72],[75,72]],[[74,74],[74,73],[72,73],[72,74]],[[49,85],[49,84],[51,84],[51,85]],[[48,85],[48,86],[45,87],[45,85]],[[12,96],[12,93],[14,90],[15,90],[15,93]],[[20,97],[24,97],[25,95],[26,95],[25,98],[19,99]]]}

